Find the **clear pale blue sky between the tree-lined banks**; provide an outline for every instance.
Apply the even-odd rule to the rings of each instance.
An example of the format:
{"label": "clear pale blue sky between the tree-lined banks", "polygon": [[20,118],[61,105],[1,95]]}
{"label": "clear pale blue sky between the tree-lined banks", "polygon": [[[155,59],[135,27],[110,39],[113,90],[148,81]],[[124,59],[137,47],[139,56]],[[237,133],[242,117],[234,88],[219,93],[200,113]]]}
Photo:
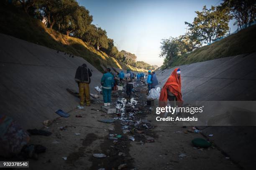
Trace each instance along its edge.
{"label": "clear pale blue sky between the tree-lined banks", "polygon": [[[78,0],[93,16],[93,24],[105,29],[118,50],[134,53],[137,61],[161,66],[160,42],[186,32],[195,11],[221,0]],[[236,30],[230,21],[231,32]]]}

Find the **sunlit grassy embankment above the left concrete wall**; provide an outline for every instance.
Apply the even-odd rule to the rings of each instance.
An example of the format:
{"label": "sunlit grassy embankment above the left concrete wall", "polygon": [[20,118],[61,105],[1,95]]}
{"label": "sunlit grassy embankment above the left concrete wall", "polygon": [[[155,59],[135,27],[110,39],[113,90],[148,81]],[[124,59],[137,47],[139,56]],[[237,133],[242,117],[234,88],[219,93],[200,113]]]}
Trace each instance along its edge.
{"label": "sunlit grassy embankment above the left concrete wall", "polygon": [[101,72],[103,71],[101,65],[120,69],[130,68],[138,72],[146,71],[125,65],[115,60],[115,58],[109,57],[105,52],[96,50],[92,45],[83,42],[79,38],[69,37],[56,30],[46,28],[40,20],[32,18],[12,7],[0,6],[0,23],[1,33],[83,57]]}

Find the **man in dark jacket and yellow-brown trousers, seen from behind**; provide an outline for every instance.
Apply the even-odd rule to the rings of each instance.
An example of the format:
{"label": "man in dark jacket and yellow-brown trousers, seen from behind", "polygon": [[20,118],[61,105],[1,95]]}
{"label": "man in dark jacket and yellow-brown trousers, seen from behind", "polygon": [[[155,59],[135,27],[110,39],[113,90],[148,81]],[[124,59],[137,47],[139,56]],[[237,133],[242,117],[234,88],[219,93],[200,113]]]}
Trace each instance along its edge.
{"label": "man in dark jacket and yellow-brown trousers, seen from behind", "polygon": [[86,105],[90,106],[90,77],[92,72],[87,68],[86,64],[83,64],[77,68],[75,80],[79,87],[80,106],[84,106],[84,96],[86,99]]}

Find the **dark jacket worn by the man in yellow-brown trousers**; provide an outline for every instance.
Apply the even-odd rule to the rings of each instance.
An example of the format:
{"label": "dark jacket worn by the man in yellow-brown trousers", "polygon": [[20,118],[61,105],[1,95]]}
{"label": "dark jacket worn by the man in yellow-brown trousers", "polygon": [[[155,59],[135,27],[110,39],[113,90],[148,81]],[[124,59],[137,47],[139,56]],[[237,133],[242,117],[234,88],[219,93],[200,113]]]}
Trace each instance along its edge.
{"label": "dark jacket worn by the man in yellow-brown trousers", "polygon": [[90,77],[92,76],[92,72],[87,68],[86,64],[79,66],[76,71],[75,80],[77,82],[86,82],[90,83]]}

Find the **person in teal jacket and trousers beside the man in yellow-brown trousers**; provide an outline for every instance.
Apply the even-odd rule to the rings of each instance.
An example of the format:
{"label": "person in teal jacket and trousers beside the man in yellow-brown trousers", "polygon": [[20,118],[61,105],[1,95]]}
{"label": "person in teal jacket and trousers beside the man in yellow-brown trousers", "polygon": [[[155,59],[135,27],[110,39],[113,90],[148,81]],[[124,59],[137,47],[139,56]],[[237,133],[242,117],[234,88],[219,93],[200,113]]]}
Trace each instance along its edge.
{"label": "person in teal jacket and trousers beside the man in yellow-brown trousers", "polygon": [[101,78],[104,106],[110,106],[112,87],[114,87],[114,77],[110,73],[110,68],[106,69],[106,73]]}

